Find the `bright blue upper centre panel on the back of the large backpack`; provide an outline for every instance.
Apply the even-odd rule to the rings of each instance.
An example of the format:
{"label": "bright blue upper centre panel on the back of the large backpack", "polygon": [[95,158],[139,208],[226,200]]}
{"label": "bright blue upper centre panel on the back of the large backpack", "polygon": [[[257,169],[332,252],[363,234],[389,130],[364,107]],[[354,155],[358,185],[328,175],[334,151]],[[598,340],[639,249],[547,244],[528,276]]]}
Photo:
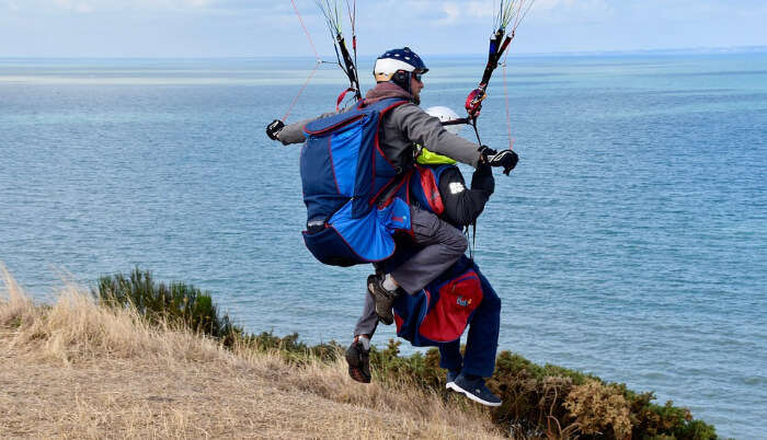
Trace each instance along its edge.
{"label": "bright blue upper centre panel on the back of the large backpack", "polygon": [[330,141],[335,183],[339,192],[347,197],[355,194],[359,147],[363,139],[364,121],[359,119],[332,135]]}

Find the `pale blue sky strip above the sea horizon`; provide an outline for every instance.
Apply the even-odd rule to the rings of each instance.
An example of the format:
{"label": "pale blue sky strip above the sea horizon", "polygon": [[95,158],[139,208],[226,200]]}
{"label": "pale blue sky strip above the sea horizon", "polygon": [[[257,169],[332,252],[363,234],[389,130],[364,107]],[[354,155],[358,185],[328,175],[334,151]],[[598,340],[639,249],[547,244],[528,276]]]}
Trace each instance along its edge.
{"label": "pale blue sky strip above the sea horizon", "polygon": [[[425,55],[480,54],[493,23],[493,0],[357,3],[362,55],[404,45]],[[314,1],[296,4],[318,50],[331,54]],[[767,0],[536,0],[513,50],[764,46],[765,23]],[[312,54],[290,0],[0,0],[0,57]]]}

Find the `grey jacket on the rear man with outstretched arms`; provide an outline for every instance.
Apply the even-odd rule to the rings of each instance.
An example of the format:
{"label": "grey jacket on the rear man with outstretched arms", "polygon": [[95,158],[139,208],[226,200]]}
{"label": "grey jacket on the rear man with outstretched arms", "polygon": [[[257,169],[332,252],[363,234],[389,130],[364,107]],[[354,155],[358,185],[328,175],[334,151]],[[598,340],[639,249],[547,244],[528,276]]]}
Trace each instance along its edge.
{"label": "grey jacket on the rear man with outstretched arms", "polygon": [[[332,113],[320,118],[330,115]],[[279,131],[278,139],[286,146],[304,142],[304,126],[311,120],[313,119],[285,126]],[[415,143],[474,167],[480,159],[480,146],[445,130],[438,118],[430,116],[412,103],[402,104],[384,115],[379,143],[386,158],[401,171],[413,167]]]}

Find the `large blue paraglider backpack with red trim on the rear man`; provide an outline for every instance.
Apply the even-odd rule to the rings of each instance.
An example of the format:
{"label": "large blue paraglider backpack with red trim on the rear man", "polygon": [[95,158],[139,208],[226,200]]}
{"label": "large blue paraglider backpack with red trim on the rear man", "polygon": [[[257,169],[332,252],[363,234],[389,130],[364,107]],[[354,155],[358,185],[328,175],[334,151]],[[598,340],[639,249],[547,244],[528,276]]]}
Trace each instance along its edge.
{"label": "large blue paraglider backpack with red trim on the rear man", "polygon": [[307,124],[300,172],[307,231],[304,242],[332,266],[380,262],[394,253],[392,234],[409,231],[410,207],[397,193],[409,173],[378,144],[384,115],[407,101],[390,99]]}

